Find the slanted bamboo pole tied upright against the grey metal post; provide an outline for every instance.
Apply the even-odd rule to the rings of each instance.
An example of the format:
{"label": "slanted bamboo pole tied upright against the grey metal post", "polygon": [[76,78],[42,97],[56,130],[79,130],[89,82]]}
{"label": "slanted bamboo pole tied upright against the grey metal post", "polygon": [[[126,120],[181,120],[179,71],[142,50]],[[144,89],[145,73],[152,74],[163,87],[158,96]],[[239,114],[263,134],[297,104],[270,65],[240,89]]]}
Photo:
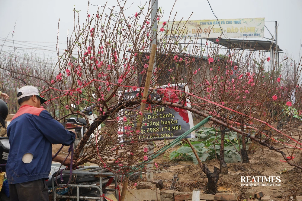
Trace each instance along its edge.
{"label": "slanted bamboo pole tied upright against the grey metal post", "polygon": [[[150,53],[149,66],[148,66],[147,77],[146,77],[146,82],[145,82],[145,87],[144,87],[144,92],[143,92],[143,99],[140,104],[140,111],[142,113],[144,113],[145,108],[146,108],[146,100],[147,100],[148,94],[149,94],[149,86],[150,86],[150,81],[151,81],[151,77],[152,77],[155,54],[156,54],[156,44],[153,44],[151,53]],[[138,121],[137,121],[137,130],[140,130],[142,121],[143,121],[143,115],[140,115],[138,118]],[[126,178],[124,179],[122,192],[120,193],[120,201],[124,201],[124,199],[125,199],[128,181],[129,181],[129,176],[126,176]]]}

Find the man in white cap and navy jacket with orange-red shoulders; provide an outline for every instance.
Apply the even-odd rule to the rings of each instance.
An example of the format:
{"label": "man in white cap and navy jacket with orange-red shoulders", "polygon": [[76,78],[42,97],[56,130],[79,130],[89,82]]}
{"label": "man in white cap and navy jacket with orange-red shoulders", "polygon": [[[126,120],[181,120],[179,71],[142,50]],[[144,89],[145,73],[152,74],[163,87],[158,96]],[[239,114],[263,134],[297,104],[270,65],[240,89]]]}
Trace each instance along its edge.
{"label": "man in white cap and navy jacket with orange-red shoulders", "polygon": [[[17,94],[21,106],[7,127],[10,151],[6,164],[10,200],[48,201],[48,187],[45,179],[51,169],[52,144],[71,145],[75,134],[65,130],[63,125],[40,104],[43,99],[34,86],[24,86]],[[56,162],[63,162],[57,156]],[[70,165],[67,159],[63,165]]]}

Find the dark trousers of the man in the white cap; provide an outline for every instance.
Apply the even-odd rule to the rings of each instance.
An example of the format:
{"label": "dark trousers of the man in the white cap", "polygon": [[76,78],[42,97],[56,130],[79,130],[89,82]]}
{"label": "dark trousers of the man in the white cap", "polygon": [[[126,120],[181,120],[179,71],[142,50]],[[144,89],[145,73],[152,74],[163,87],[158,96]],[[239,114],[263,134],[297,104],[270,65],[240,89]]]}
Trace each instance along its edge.
{"label": "dark trousers of the man in the white cap", "polygon": [[10,201],[49,201],[45,179],[9,184]]}

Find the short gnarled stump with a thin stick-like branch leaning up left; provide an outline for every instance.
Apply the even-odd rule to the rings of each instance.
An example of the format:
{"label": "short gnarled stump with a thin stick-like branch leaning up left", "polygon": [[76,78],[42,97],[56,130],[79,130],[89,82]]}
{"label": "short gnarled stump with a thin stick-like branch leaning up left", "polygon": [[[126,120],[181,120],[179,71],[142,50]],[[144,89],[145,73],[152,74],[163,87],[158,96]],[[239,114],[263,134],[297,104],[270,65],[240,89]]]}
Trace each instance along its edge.
{"label": "short gnarled stump with a thin stick-like branch leaning up left", "polygon": [[201,170],[206,173],[207,175],[207,178],[208,178],[208,183],[207,183],[207,186],[206,186],[206,190],[204,193],[207,193],[207,194],[213,194],[215,195],[216,193],[218,193],[218,188],[217,188],[217,182],[218,182],[218,179],[219,179],[219,173],[220,173],[220,169],[217,168],[216,166],[214,166],[214,172],[212,173],[209,168],[207,167],[207,164],[202,164],[199,157],[198,157],[198,154],[196,152],[196,150],[194,149],[193,145],[190,143],[190,141],[188,139],[185,139],[187,141],[187,143],[189,144],[189,146],[191,147],[197,161],[198,161],[198,164],[201,168]]}

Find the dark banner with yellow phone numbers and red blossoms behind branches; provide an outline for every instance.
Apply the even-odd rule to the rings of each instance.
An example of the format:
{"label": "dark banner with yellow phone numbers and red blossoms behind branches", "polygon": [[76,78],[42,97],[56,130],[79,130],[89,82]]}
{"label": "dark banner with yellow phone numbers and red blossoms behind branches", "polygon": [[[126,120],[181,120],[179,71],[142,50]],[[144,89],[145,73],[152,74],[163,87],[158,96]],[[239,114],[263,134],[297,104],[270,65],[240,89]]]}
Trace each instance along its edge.
{"label": "dark banner with yellow phone numbers and red blossoms behind branches", "polygon": [[[185,84],[175,84],[170,86],[161,86],[160,88],[165,90],[153,90],[153,93],[148,97],[154,100],[163,100],[169,102],[180,102],[178,95],[182,96],[185,91]],[[178,90],[177,92],[173,90]],[[137,97],[139,90],[130,90],[125,92],[123,99],[131,100]],[[122,93],[119,93],[121,96]],[[190,106],[189,103],[185,103],[186,106]],[[137,125],[137,118],[139,116],[140,106],[135,109],[125,109],[123,111],[127,120],[131,121],[130,126],[120,131],[120,136],[127,138],[125,133],[129,132],[129,129],[135,130]],[[123,121],[120,119],[120,121]],[[159,105],[146,104],[145,112],[143,113],[143,122],[141,125],[141,134],[139,139],[141,140],[168,140],[176,139],[186,131],[193,127],[193,118],[191,112],[187,110],[165,107]],[[131,131],[133,132],[133,131]],[[186,138],[195,138],[195,133],[190,133]]]}

